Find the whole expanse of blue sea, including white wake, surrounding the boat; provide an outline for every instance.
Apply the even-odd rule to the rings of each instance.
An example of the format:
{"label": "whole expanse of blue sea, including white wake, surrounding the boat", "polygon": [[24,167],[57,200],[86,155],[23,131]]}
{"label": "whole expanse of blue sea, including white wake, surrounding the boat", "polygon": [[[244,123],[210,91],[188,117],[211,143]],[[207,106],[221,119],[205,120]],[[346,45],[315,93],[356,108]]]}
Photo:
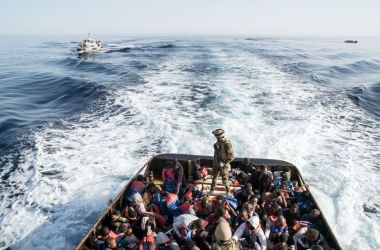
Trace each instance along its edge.
{"label": "whole expanse of blue sea, including white wake, surrounding the boat", "polygon": [[380,39],[0,37],[0,249],[71,249],[149,157],[298,166],[344,249],[380,249]]}

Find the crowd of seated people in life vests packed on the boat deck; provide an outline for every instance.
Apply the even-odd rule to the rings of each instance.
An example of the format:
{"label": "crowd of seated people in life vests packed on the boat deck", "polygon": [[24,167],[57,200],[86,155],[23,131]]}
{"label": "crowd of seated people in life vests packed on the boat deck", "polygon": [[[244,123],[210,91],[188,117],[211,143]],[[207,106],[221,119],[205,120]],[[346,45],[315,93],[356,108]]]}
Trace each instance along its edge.
{"label": "crowd of seated people in life vests packed on the boat deck", "polygon": [[229,172],[229,192],[218,194],[225,183],[213,183],[210,192],[206,179],[213,171],[198,162],[192,168],[187,181],[176,160],[165,162],[162,180],[152,172],[137,176],[125,207],[113,211],[87,248],[329,249],[321,213],[290,169],[272,172],[247,159]]}

